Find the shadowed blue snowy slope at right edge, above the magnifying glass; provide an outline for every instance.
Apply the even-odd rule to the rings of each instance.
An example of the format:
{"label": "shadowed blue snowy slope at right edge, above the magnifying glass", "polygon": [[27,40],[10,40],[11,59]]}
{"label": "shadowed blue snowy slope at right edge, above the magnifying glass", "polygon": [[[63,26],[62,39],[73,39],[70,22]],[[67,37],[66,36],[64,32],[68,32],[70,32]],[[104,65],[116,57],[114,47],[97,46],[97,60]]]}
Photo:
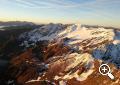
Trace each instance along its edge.
{"label": "shadowed blue snowy slope at right edge, above the magnifying glass", "polygon": [[93,51],[93,56],[106,62],[114,63],[120,68],[120,44],[108,44]]}

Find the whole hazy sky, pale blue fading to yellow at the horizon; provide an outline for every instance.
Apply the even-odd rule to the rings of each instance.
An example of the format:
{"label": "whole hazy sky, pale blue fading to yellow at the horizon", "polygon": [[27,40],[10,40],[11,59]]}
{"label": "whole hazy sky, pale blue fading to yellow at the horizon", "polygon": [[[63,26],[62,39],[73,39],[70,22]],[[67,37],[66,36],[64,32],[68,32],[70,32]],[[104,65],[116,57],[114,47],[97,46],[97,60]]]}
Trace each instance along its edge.
{"label": "whole hazy sky, pale blue fading to yellow at the horizon", "polygon": [[120,0],[0,0],[0,20],[120,27]]}

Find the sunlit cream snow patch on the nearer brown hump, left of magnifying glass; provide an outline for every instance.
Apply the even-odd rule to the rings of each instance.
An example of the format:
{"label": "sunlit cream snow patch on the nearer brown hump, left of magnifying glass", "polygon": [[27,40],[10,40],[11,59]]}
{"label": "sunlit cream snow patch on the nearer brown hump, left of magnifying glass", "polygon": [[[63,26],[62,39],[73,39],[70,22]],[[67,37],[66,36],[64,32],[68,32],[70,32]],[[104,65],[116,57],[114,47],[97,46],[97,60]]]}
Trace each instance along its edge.
{"label": "sunlit cream snow patch on the nearer brown hump, left of magnifying glass", "polygon": [[[63,80],[68,80],[68,79],[72,79],[72,78],[76,78],[78,81],[84,81],[87,79],[87,77],[92,74],[92,72],[94,71],[94,62],[93,62],[93,58],[90,54],[88,53],[84,53],[84,54],[77,54],[77,53],[72,53],[70,54],[70,56],[74,56],[74,60],[69,63],[70,65],[68,65],[65,69],[65,72],[72,69],[72,68],[76,68],[76,66],[80,66],[79,68],[82,68],[81,65],[83,65],[87,71],[83,71],[81,74],[79,74],[79,68],[71,73],[68,72],[66,75],[64,76],[55,76],[54,79],[55,80],[59,80],[59,79],[63,79]],[[70,57],[69,57],[70,58]]]}

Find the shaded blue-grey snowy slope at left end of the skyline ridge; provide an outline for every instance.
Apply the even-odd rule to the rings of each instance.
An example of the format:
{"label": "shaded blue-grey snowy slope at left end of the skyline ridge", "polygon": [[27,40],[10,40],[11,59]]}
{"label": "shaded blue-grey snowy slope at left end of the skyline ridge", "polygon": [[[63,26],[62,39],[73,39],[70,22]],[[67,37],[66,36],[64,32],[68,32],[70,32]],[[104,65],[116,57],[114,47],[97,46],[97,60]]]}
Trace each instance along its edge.
{"label": "shaded blue-grey snowy slope at left end of the skyline ridge", "polygon": [[57,37],[58,33],[64,29],[64,25],[62,24],[48,24],[44,25],[38,29],[32,30],[28,33],[24,33],[20,36],[20,38],[37,42],[42,40],[53,40]]}

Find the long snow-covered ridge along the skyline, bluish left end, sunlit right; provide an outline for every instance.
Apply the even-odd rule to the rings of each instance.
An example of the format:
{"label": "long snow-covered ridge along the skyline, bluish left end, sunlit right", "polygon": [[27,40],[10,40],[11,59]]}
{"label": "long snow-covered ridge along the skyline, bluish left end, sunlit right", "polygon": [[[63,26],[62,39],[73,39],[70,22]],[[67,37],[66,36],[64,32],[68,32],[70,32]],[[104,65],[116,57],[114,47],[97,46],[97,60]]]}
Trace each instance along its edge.
{"label": "long snow-covered ridge along the skyline, bluish left end, sunlit right", "polygon": [[36,43],[37,41],[43,40],[50,42],[60,42],[61,40],[64,40],[65,44],[71,46],[80,43],[89,46],[102,43],[103,41],[111,41],[113,38],[113,29],[81,28],[79,24],[66,26],[62,24],[48,24],[20,36],[20,39],[24,40],[23,45],[25,43]]}

